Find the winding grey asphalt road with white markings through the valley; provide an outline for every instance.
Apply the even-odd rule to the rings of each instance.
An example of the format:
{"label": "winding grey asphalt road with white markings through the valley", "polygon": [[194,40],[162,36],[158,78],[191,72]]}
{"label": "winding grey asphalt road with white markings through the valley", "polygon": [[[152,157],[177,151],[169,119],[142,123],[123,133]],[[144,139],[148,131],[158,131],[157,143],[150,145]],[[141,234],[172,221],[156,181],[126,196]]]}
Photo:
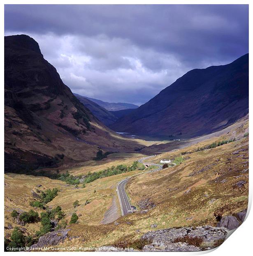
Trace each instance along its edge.
{"label": "winding grey asphalt road with white markings through the valley", "polygon": [[[142,164],[148,164],[149,166],[151,165],[154,165],[154,166],[157,166],[156,169],[153,169],[151,171],[146,171],[145,173],[152,173],[154,171],[159,171],[162,169],[162,166],[160,164],[154,164],[154,163],[149,163],[149,162],[146,162],[147,159],[149,159],[150,157],[153,157],[153,156],[146,156],[146,157],[143,157],[141,159],[138,160],[138,162],[142,163]],[[136,174],[136,175],[133,175],[133,176],[137,176],[137,175],[140,175],[140,174],[143,174],[143,173],[139,173],[139,174]],[[119,199],[119,203],[120,203],[120,206],[121,206],[121,215],[124,216],[124,215],[127,215],[128,213],[132,213],[132,209],[131,209],[131,206],[130,206],[130,202],[128,200],[128,196],[125,192],[125,184],[128,182],[128,180],[130,180],[130,178],[132,178],[133,176],[131,177],[128,177],[124,180],[121,180],[118,185],[117,185],[117,193],[118,193],[118,199]]]}

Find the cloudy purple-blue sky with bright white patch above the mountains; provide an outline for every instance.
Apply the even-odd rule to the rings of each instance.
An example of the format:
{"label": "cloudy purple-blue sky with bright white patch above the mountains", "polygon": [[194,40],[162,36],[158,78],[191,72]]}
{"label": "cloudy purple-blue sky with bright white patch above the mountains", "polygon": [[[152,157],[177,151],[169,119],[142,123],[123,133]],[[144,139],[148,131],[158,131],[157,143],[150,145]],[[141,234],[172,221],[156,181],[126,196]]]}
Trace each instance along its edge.
{"label": "cloudy purple-blue sky with bright white patch above the mountains", "polygon": [[72,92],[143,104],[190,69],[248,52],[248,5],[5,5]]}

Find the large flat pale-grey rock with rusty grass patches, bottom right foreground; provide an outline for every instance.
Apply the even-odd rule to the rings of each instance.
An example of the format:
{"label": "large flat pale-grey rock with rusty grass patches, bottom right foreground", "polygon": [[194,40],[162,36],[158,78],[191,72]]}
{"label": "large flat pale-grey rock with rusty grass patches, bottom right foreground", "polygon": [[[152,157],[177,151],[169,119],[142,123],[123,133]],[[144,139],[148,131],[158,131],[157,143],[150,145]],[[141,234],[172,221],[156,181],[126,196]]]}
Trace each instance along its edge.
{"label": "large flat pale-grey rock with rusty grass patches, bottom right foreground", "polygon": [[142,239],[150,241],[142,251],[202,251],[219,246],[227,236],[226,228],[211,226],[168,228],[150,231]]}

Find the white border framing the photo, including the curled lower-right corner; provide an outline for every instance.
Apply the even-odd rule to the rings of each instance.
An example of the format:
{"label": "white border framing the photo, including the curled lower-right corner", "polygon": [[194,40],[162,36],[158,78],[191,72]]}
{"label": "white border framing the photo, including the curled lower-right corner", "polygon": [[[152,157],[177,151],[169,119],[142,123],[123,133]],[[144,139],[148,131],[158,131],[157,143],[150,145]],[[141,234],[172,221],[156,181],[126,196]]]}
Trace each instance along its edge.
{"label": "white border framing the photo, including the curled lower-right corner", "polygon": [[[72,0],[72,1],[66,1],[66,0],[37,0],[37,1],[21,1],[21,0],[10,0],[10,1],[3,1],[4,4],[249,4],[250,1],[245,1],[245,0],[205,0],[205,1],[200,1],[200,0],[128,0],[128,1],[116,1],[116,0],[93,0],[93,1],[80,1],[80,0]],[[1,5],[1,28],[2,28],[2,35],[4,35],[4,22],[3,22],[3,17],[4,17],[4,5]],[[252,19],[251,17],[253,17],[253,13],[252,13],[252,8],[251,5],[249,6],[249,25],[251,27],[251,22]],[[249,35],[249,40],[250,40],[250,47],[251,47],[251,43],[252,43],[252,33],[250,33]],[[2,146],[4,145],[4,133],[3,133],[3,128],[4,128],[4,110],[3,110],[3,106],[4,106],[4,94],[3,94],[3,85],[4,85],[4,37],[2,36],[2,39],[0,40],[1,42],[1,52],[2,52],[2,61],[1,61],[1,78],[2,78],[2,94],[1,94],[1,103],[2,103],[2,111],[1,111],[1,124],[2,124],[2,129],[1,129],[1,142],[2,142]],[[251,60],[251,55],[250,55],[250,80],[249,80],[249,84],[251,85],[251,75],[252,75],[252,60]],[[252,95],[252,89],[250,86],[250,93],[249,95]],[[252,107],[252,103],[250,101],[250,109]],[[252,133],[252,129],[250,128],[250,134]],[[250,136],[250,152],[252,149],[252,142],[251,142],[251,136]],[[3,167],[3,163],[4,163],[4,154],[3,154],[4,150],[2,149],[2,154],[1,154],[1,163],[2,163],[2,175],[4,173],[4,167]],[[251,169],[251,156],[250,156],[250,169]],[[251,203],[252,203],[252,186],[253,186],[253,182],[251,179],[251,175],[250,175],[250,189],[249,189],[249,201],[248,201],[248,209],[251,208]],[[0,191],[2,194],[2,206],[4,205],[4,177],[2,177],[2,185],[0,186]],[[248,213],[247,213],[248,215]],[[2,245],[4,243],[4,235],[3,235],[3,227],[4,227],[4,211],[3,211],[3,207],[2,207],[2,211],[1,211],[1,221],[2,221],[2,232],[1,232],[1,242]],[[246,219],[246,221],[236,230],[236,232],[234,232],[233,235],[231,235],[220,247],[218,247],[218,249],[213,249],[213,250],[209,250],[209,251],[202,251],[202,252],[155,252],[158,255],[162,255],[162,254],[169,254],[169,255],[197,255],[197,254],[205,254],[205,253],[209,253],[212,251],[212,255],[250,255],[252,254],[252,228],[253,228],[253,215],[252,213],[249,214],[249,217]],[[1,247],[2,251],[3,251],[3,246]],[[14,252],[14,254],[17,254],[19,252]],[[49,252],[38,252],[38,254],[48,254]],[[51,252],[51,254],[57,254],[59,255],[60,252]],[[119,254],[120,252],[115,252],[114,254]],[[27,252],[23,252],[22,255],[26,255],[29,254]],[[65,254],[65,252],[61,252],[60,254]],[[71,256],[73,256],[74,254],[77,254],[77,252],[72,252]],[[86,252],[85,255],[89,255],[89,254],[99,254],[101,255],[101,252]],[[131,252],[131,254],[136,254],[136,252]],[[147,254],[147,252],[142,252],[142,255]]]}

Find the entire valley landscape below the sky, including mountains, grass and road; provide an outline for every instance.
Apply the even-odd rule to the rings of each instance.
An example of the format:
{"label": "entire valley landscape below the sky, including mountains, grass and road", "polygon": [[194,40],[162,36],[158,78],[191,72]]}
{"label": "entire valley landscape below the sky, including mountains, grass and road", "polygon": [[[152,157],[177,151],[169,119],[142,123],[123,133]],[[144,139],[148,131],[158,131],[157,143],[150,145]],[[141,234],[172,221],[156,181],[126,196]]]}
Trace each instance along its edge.
{"label": "entire valley landscape below the sky, including mountains, grass and road", "polygon": [[138,107],[73,94],[6,36],[5,248],[217,247],[246,216],[248,122],[248,55]]}

